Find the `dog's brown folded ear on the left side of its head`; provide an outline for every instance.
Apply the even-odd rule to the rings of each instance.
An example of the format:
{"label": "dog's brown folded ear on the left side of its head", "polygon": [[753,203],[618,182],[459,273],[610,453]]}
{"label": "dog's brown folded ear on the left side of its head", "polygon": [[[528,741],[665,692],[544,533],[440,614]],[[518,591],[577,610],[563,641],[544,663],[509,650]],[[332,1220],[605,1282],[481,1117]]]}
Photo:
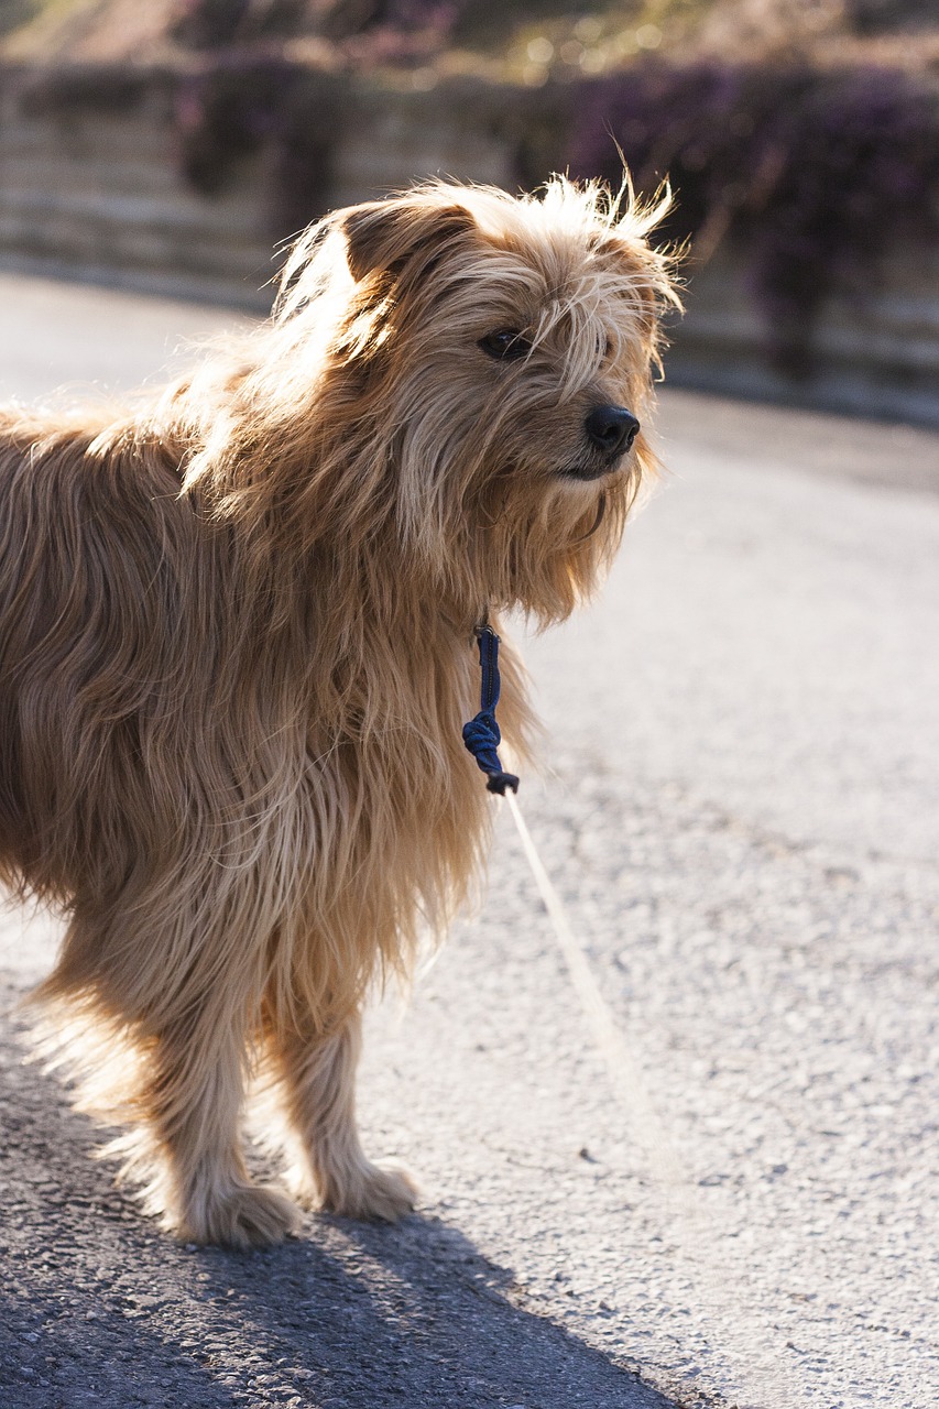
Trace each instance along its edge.
{"label": "dog's brown folded ear on the left side of its head", "polygon": [[[406,197],[375,200],[343,220],[348,266],[357,283],[371,273],[399,273],[413,259],[438,258],[475,230],[462,206],[430,206]],[[422,263],[423,263],[422,258]]]}

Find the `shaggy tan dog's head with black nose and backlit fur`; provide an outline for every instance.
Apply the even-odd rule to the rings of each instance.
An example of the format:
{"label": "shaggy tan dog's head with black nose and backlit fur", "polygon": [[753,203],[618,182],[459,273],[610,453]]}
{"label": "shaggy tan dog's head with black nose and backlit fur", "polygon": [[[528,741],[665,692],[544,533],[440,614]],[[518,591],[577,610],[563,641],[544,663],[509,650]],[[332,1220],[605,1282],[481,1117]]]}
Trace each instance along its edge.
{"label": "shaggy tan dog's head with black nose and backlit fur", "polygon": [[677,304],[663,209],[436,183],[336,213],[288,262],[276,317],[324,338],[347,490],[392,506],[407,571],[468,613],[563,617],[619,542]]}

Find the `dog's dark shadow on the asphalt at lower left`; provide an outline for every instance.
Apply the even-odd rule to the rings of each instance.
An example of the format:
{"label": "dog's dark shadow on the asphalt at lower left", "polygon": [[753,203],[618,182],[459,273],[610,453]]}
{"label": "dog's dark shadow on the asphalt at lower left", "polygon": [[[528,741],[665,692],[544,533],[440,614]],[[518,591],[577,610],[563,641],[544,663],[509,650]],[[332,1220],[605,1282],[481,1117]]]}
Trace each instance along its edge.
{"label": "dog's dark shadow on the asphalt at lower left", "polygon": [[513,1305],[512,1274],[440,1217],[312,1217],[281,1247],[186,1250],[114,1189],[97,1133],[8,1024],[0,1122],[0,1409],[665,1406]]}

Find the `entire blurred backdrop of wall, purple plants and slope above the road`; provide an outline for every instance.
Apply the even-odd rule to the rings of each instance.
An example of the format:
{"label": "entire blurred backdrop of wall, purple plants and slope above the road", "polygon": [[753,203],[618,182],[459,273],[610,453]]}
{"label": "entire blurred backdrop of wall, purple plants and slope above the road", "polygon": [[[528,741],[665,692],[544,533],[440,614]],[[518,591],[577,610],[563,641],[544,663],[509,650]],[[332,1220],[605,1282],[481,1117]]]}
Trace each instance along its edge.
{"label": "entire blurred backdrop of wall, purple plants and slope above the road", "polygon": [[673,383],[939,423],[933,0],[0,0],[0,263],[254,310],[447,173],[668,176]]}

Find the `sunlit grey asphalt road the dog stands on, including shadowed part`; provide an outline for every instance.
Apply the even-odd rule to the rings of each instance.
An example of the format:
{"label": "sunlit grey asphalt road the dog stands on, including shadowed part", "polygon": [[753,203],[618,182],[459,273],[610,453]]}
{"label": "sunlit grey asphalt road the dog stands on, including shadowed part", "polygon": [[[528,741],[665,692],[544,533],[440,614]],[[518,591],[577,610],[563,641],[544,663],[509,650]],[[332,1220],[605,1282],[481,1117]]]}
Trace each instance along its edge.
{"label": "sunlit grey asphalt road the dog stands on, including shadowed part", "polygon": [[[0,397],[131,386],[227,321],[1,278]],[[529,644],[520,799],[636,1084],[508,813],[481,916],[369,1023],[368,1146],[426,1191],[398,1229],[168,1241],[4,1019],[3,1409],[939,1398],[939,435],[661,413],[602,599]],[[54,941],[3,920],[10,999]]]}

